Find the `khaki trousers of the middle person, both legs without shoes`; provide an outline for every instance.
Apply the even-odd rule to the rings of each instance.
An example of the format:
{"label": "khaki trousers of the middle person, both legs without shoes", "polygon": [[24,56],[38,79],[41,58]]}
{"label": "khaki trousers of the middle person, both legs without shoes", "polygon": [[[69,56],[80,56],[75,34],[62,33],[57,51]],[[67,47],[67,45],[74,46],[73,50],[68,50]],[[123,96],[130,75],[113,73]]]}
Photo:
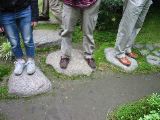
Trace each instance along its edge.
{"label": "khaki trousers of the middle person, both legs without shoes", "polygon": [[96,27],[98,11],[101,0],[98,0],[93,6],[86,9],[74,8],[64,4],[62,13],[63,32],[61,51],[62,57],[70,57],[72,50],[72,33],[79,18],[82,18],[83,31],[83,49],[84,57],[92,58],[95,49],[95,42],[93,39],[93,31]]}

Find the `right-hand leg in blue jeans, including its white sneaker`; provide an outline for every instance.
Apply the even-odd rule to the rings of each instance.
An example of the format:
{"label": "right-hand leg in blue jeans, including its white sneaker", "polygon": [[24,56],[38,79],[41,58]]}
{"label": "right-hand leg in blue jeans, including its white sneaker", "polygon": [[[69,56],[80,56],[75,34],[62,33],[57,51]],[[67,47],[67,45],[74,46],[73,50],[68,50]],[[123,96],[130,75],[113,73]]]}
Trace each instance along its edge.
{"label": "right-hand leg in blue jeans, including its white sneaker", "polygon": [[34,57],[35,57],[35,45],[33,42],[33,33],[31,26],[31,8],[28,7],[25,10],[17,13],[18,27],[24,41],[27,61],[27,73],[33,74],[36,70]]}

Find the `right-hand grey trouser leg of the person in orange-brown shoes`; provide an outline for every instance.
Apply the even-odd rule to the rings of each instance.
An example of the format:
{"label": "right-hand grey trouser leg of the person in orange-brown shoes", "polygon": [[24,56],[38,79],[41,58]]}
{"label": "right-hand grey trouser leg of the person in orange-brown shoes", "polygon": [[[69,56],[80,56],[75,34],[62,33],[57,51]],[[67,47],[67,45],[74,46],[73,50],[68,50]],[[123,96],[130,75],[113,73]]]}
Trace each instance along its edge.
{"label": "right-hand grey trouser leg of the person in orange-brown shoes", "polygon": [[[148,10],[150,8],[150,5],[152,4],[152,0],[148,0],[141,12],[141,14],[139,15],[139,18],[137,20],[137,23],[133,29],[133,32],[132,32],[132,35],[130,36],[129,38],[129,41],[127,43],[127,48],[126,48],[126,53],[129,54],[129,53],[132,53],[132,46],[135,42],[135,39],[139,33],[139,31],[141,30],[142,26],[143,26],[143,23],[144,23],[144,20],[145,20],[145,17],[148,13]],[[132,56],[131,56],[132,57]]]}

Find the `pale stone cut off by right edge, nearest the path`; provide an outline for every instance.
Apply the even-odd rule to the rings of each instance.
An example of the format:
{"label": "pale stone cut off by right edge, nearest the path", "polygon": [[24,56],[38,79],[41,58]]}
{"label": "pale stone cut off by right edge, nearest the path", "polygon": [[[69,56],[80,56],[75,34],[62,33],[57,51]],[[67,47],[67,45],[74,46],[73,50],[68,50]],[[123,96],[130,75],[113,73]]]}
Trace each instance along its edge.
{"label": "pale stone cut off by right edge, nearest the path", "polygon": [[147,62],[151,65],[155,65],[155,66],[160,66],[160,58],[157,56],[153,56],[153,55],[148,55],[147,57]]}

